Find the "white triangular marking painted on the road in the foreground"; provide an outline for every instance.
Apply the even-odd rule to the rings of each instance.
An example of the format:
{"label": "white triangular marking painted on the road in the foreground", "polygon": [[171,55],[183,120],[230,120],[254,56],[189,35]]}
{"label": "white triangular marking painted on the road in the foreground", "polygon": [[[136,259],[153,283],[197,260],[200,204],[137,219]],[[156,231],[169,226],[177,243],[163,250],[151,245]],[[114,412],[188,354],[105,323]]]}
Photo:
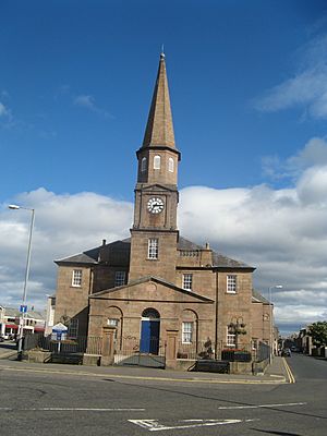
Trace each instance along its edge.
{"label": "white triangular marking painted on the road in the foreground", "polygon": [[242,422],[253,422],[253,421],[259,421],[259,420],[182,420],[180,421],[181,423],[194,422],[196,424],[182,424],[182,425],[169,425],[169,426],[160,424],[157,420],[129,420],[129,422],[131,422],[132,424],[136,424],[140,427],[148,429],[149,432],[240,424]]}

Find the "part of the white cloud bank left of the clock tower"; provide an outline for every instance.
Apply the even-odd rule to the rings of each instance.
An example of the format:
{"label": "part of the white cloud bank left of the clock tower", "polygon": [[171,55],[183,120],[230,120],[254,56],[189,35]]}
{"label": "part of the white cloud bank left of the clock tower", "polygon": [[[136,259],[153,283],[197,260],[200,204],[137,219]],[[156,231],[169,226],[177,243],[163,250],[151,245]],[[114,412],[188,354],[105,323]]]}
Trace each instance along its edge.
{"label": "part of the white cloud bank left of the clock tower", "polygon": [[[130,203],[94,193],[56,195],[45,189],[19,194],[11,203],[34,207],[31,280],[28,300],[43,307],[45,295],[56,289],[53,259],[66,257],[108,241],[129,237],[132,223]],[[17,306],[23,293],[31,213],[0,213],[0,304]]]}

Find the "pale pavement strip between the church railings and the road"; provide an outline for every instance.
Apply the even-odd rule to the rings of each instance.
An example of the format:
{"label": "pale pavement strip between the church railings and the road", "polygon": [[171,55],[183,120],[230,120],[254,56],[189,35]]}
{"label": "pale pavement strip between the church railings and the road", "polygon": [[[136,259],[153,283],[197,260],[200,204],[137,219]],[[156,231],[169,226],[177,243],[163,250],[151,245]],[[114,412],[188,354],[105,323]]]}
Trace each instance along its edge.
{"label": "pale pavement strip between the church railings and the road", "polygon": [[284,358],[275,356],[271,365],[261,375],[251,374],[217,374],[204,372],[183,372],[173,370],[158,370],[135,366],[86,366],[52,363],[28,363],[15,361],[13,355],[0,355],[0,371],[33,372],[66,374],[80,377],[110,377],[116,379],[172,382],[172,383],[202,383],[202,384],[266,384],[278,385],[295,383],[291,370]]}

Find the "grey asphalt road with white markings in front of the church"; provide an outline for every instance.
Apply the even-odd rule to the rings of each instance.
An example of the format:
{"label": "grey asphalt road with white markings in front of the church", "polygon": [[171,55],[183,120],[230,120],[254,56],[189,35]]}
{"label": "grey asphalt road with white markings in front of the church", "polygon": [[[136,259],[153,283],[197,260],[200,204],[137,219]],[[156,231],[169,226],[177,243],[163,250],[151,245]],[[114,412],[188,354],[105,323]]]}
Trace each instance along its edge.
{"label": "grey asphalt road with white markings in front of the church", "polygon": [[45,373],[1,361],[0,428],[15,436],[323,436],[327,362],[293,354],[288,363],[295,384],[250,385],[59,374],[50,364]]}

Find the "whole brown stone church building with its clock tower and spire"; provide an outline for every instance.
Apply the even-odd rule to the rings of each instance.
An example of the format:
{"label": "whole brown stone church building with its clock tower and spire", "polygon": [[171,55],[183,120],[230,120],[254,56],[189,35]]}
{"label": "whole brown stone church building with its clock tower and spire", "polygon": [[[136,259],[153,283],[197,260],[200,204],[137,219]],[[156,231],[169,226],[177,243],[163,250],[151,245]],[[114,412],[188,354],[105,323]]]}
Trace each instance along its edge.
{"label": "whole brown stone church building with its clock tower and spire", "polygon": [[[184,239],[177,227],[178,167],[166,60],[161,53],[144,141],[131,237],[56,261],[55,322],[75,336],[102,337],[116,347],[133,338],[142,353],[158,353],[174,331],[180,354],[210,344],[254,349],[269,342],[271,305],[253,291],[254,267]],[[134,347],[135,349],[135,347]]]}

